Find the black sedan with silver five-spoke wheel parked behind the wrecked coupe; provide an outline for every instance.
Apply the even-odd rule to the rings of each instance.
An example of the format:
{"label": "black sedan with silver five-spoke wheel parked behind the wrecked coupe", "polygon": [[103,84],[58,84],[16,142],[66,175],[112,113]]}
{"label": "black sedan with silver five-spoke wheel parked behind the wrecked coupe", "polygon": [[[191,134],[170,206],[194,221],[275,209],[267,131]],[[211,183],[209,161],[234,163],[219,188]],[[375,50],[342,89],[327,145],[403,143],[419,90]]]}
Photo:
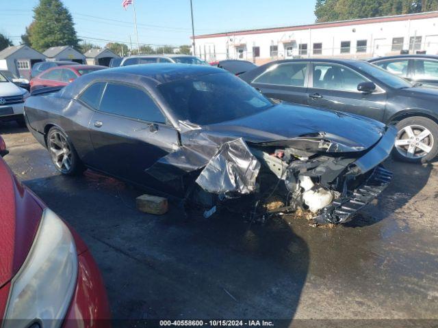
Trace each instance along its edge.
{"label": "black sedan with silver five-spoke wheel parked behind the wrecked coupe", "polygon": [[272,61],[240,77],[270,98],[396,124],[396,159],[424,163],[438,154],[438,90],[415,87],[366,61]]}

